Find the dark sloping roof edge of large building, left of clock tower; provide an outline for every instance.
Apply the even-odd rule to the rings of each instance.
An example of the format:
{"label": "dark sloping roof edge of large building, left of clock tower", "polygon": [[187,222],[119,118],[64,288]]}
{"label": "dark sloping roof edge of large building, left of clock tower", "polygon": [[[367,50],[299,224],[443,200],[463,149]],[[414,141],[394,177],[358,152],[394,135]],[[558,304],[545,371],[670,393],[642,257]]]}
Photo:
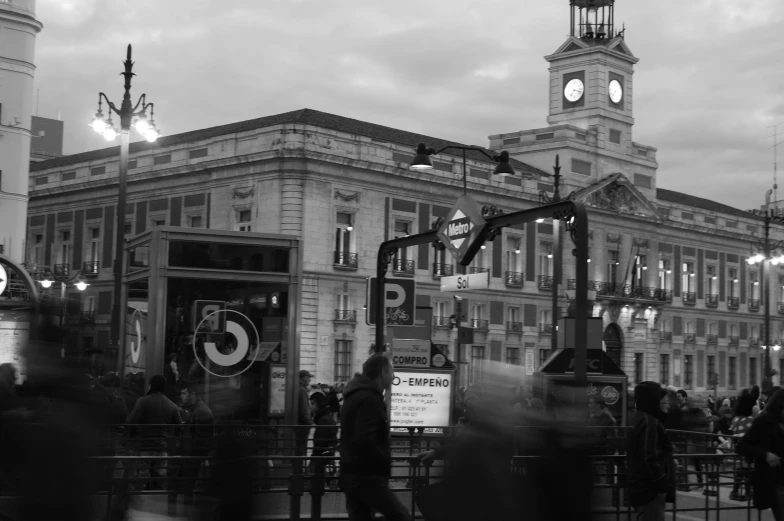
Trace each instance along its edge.
{"label": "dark sloping roof edge of large building, left of clock tower", "polygon": [[[183,132],[182,134],[174,134],[171,136],[163,136],[155,143],[148,143],[146,141],[138,141],[131,143],[130,151],[141,152],[144,150],[151,150],[160,147],[167,147],[172,145],[179,145],[182,143],[190,143],[202,139],[209,139],[213,137],[223,136],[226,134],[235,134],[238,132],[247,132],[259,128],[273,127],[277,125],[310,125],[314,127],[328,128],[338,132],[345,132],[348,134],[356,134],[366,136],[390,143],[399,145],[406,145],[411,147],[413,156],[416,145],[420,142],[426,143],[429,147],[436,149],[449,146],[466,146],[453,141],[446,141],[443,139],[424,136],[422,134],[415,134],[413,132],[406,132],[405,130],[398,130],[383,125],[376,125],[375,123],[368,123],[366,121],[359,121],[357,119],[346,118],[337,116],[335,114],[327,114],[313,109],[300,109],[292,112],[284,112],[282,114],[275,114],[272,116],[264,116],[262,118],[249,119],[246,121],[239,121],[237,123],[229,123],[228,125],[220,125],[217,127],[210,127],[201,130],[192,130],[190,132]],[[492,155],[492,151],[484,147],[476,147],[484,150]],[[31,172],[38,172],[41,170],[48,170],[51,168],[64,167],[76,163],[83,163],[87,161],[99,161],[102,159],[116,158],[120,155],[120,147],[109,147],[100,150],[91,150],[89,152],[82,152],[80,154],[72,154],[68,156],[58,157],[56,159],[49,159],[30,165]],[[485,157],[480,152],[467,151],[466,158],[472,161],[487,162]],[[512,166],[517,172],[521,174],[530,174],[540,177],[551,177],[552,174],[540,170],[522,161],[512,159],[510,161]]]}

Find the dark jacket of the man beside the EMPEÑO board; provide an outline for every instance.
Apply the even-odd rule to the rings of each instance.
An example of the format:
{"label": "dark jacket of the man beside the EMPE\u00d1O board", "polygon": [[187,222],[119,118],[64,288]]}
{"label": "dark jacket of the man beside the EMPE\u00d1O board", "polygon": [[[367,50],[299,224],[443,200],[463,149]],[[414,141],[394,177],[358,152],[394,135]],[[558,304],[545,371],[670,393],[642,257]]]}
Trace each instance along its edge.
{"label": "dark jacket of the man beside the EMPE\u00d1O board", "polygon": [[343,391],[340,469],[343,474],[388,478],[392,467],[384,395],[376,382],[356,376]]}

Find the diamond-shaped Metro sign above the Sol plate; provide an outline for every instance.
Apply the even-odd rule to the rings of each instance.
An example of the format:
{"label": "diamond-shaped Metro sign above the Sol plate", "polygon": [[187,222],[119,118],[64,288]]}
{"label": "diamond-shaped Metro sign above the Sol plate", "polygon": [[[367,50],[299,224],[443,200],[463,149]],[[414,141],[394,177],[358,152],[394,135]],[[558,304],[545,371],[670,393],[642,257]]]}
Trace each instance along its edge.
{"label": "diamond-shaped Metro sign above the Sol plate", "polygon": [[437,235],[455,259],[468,266],[485,241],[486,227],[482,208],[471,197],[463,195],[446,215]]}

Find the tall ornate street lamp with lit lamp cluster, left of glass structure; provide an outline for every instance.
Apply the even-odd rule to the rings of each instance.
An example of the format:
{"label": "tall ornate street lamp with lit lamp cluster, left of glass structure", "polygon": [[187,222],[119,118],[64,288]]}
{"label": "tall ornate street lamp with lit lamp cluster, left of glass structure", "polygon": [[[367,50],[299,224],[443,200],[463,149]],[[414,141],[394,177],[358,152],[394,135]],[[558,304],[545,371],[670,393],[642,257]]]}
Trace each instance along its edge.
{"label": "tall ornate street lamp with lit lamp cluster, left of glass structure", "polygon": [[[128,56],[123,62],[125,71],[121,72],[125,77],[125,94],[123,101],[118,109],[112,103],[106,94],[103,92],[98,94],[98,112],[92,121],[93,130],[102,134],[107,141],[114,141],[117,137],[117,130],[112,122],[112,113],[115,113],[120,118],[120,169],[118,173],[118,197],[117,197],[117,226],[115,229],[115,253],[114,253],[114,293],[112,305],[112,323],[111,323],[111,345],[117,350],[117,370],[122,374],[122,363],[125,360],[125,342],[122,342],[122,350],[120,352],[120,342],[125,332],[125,320],[121,311],[122,306],[122,277],[124,273],[124,237],[125,237],[125,200],[126,200],[126,178],[128,176],[128,151],[131,143],[131,125],[136,127],[136,130],[142,134],[149,142],[154,142],[158,139],[160,132],[155,126],[154,119],[154,106],[152,103],[147,103],[147,95],[142,94],[139,101],[134,106],[131,102],[131,78],[133,73],[133,62],[131,61],[131,45],[128,44]],[[101,110],[101,102],[106,100],[109,106],[109,118],[104,118]],[[141,110],[138,110],[141,107]],[[150,117],[147,118],[147,109],[150,109]]]}

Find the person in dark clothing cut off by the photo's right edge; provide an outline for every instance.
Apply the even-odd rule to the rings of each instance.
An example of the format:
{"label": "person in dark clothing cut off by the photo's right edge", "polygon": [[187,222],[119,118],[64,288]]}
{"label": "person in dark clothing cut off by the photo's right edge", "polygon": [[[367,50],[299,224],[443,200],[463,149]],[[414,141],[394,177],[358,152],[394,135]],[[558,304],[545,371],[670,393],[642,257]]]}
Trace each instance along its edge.
{"label": "person in dark clothing cut off by the photo's right edge", "polygon": [[739,454],[754,460],[751,482],[754,507],[773,510],[776,521],[784,520],[784,391],[777,391],[751,428],[738,441]]}

